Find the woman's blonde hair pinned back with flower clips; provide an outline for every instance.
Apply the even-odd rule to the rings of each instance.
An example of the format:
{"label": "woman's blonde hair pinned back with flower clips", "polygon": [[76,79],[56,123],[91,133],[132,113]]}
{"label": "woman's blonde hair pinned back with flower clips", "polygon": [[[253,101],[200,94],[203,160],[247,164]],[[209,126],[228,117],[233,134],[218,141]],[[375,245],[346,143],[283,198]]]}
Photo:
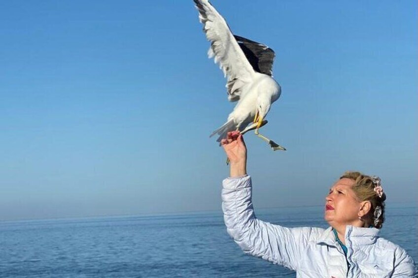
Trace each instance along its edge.
{"label": "woman's blonde hair pinned back with flower clips", "polygon": [[[354,181],[352,189],[360,202],[369,201],[372,205],[369,213],[364,217],[366,223],[381,229],[384,222],[384,200],[386,200],[386,194],[383,193],[382,197],[376,194],[374,190],[376,183],[371,176],[360,172],[347,171],[340,177],[340,180],[344,178]],[[381,210],[381,213],[376,213],[379,210]]]}

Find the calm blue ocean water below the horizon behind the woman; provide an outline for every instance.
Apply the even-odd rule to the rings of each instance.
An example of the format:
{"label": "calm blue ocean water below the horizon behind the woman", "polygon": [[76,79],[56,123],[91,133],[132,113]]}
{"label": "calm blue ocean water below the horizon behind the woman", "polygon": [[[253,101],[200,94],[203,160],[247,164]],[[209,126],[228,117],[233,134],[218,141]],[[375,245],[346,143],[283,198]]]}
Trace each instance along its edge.
{"label": "calm blue ocean water below the horizon behind the woman", "polygon": [[[327,227],[322,207],[256,210],[288,227]],[[381,236],[418,259],[417,208],[387,206]],[[0,277],[295,277],[245,255],[221,212],[0,222]]]}

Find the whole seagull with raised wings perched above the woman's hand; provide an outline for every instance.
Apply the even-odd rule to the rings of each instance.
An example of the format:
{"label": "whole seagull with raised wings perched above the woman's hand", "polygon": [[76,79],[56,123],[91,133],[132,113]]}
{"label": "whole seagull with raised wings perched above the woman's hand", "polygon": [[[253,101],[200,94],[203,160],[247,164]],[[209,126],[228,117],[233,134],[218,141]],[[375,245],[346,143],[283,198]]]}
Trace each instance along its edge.
{"label": "whole seagull with raised wings perched above the woman's hand", "polygon": [[286,149],[261,135],[258,129],[267,124],[265,117],[281,93],[279,83],[273,79],[274,51],[268,46],[234,35],[225,19],[209,0],[193,0],[199,11],[199,21],[210,41],[209,58],[219,64],[225,77],[228,100],[238,101],[228,120],[210,135],[219,135],[217,142],[229,131],[241,134],[255,129],[255,135],[274,150]]}

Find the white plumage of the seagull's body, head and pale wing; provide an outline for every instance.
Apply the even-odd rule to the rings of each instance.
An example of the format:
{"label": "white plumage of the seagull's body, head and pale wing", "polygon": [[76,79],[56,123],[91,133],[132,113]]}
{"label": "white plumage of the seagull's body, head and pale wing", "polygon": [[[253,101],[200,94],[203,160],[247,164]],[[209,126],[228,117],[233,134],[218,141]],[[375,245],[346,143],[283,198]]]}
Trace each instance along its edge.
{"label": "white plumage of the seagull's body, head and pale wing", "polygon": [[[238,101],[228,121],[212,133],[218,134],[217,141],[220,141],[229,131],[242,131],[252,122],[257,110],[265,117],[270,105],[279,98],[281,89],[272,77],[254,71],[227,23],[209,1],[194,1],[199,10],[199,21],[211,43],[208,57],[219,63],[227,77],[228,99]],[[263,105],[268,106],[265,111],[260,110]]]}

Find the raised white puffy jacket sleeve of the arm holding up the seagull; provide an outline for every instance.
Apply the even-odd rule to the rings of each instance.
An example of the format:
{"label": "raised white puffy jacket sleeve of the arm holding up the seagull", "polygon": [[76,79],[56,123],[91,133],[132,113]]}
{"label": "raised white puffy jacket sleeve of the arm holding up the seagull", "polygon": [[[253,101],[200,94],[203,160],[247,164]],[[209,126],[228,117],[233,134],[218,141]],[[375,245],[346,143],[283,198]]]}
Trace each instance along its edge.
{"label": "raised white puffy jacket sleeve of the arm holding up the seagull", "polygon": [[249,176],[223,181],[222,210],[229,235],[245,253],[297,270],[312,228],[286,228],[257,219]]}

